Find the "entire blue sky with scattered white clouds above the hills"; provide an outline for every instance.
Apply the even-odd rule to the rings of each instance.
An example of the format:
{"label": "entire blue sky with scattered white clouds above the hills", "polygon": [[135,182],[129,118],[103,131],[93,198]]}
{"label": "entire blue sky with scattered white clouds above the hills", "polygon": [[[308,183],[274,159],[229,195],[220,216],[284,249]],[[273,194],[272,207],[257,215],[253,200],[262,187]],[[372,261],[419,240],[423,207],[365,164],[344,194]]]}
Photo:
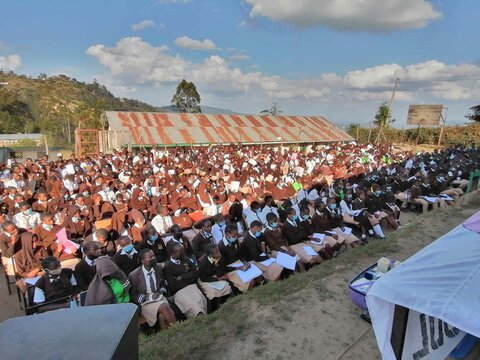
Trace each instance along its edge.
{"label": "entire blue sky with scattered white clouds above the hills", "polygon": [[96,78],[115,95],[168,105],[192,80],[202,104],[367,124],[391,95],[444,104],[464,123],[480,103],[475,0],[9,1],[0,67]]}

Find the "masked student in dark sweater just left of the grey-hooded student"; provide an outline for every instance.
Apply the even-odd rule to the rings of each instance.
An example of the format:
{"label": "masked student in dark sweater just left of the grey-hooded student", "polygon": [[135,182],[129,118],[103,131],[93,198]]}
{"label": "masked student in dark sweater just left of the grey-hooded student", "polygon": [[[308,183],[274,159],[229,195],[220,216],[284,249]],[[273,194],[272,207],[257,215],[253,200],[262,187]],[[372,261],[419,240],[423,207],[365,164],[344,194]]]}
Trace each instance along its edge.
{"label": "masked student in dark sweater just left of the grey-hooded student", "polygon": [[33,302],[41,305],[39,312],[70,307],[70,301],[77,295],[77,280],[70,269],[62,269],[54,256],[42,260],[44,275],[35,284]]}

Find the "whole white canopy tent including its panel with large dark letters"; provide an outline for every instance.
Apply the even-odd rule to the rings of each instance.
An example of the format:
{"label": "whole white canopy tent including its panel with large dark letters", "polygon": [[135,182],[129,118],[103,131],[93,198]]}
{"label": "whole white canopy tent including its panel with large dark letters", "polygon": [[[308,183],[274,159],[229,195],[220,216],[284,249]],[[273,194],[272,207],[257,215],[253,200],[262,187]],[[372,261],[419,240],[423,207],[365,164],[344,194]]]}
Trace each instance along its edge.
{"label": "whole white canopy tent including its panel with large dark letters", "polygon": [[480,212],[382,276],[366,297],[384,360],[444,359],[480,337]]}

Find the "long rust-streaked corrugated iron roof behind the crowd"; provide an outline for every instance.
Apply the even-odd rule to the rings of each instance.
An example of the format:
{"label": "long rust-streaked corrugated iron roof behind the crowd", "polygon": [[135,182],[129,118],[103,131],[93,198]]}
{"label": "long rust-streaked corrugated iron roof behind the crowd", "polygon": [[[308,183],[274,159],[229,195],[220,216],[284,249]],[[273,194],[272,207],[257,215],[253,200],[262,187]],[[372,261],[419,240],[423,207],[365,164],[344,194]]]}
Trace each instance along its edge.
{"label": "long rust-streaked corrugated iron roof behind the crowd", "polygon": [[110,130],[138,145],[311,143],[353,138],[321,116],[221,115],[107,111]]}

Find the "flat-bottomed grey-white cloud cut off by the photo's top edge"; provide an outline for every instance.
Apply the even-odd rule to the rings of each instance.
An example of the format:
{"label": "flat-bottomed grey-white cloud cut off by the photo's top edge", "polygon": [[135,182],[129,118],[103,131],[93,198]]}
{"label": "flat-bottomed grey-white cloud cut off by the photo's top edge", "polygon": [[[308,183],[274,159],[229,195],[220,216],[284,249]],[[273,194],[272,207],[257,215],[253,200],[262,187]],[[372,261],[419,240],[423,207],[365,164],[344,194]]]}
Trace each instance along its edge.
{"label": "flat-bottomed grey-white cloud cut off by the photo's top edge", "polygon": [[429,0],[245,0],[252,18],[346,31],[416,29],[440,18]]}

